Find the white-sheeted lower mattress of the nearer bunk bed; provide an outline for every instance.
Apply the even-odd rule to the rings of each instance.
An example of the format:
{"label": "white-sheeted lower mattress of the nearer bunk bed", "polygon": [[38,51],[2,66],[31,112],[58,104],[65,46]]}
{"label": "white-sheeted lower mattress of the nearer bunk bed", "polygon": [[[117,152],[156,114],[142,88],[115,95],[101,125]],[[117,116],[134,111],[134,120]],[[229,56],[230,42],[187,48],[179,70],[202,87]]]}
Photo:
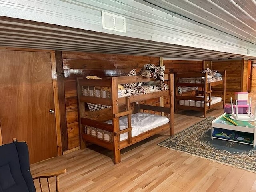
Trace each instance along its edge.
{"label": "white-sheeted lower mattress of the nearer bunk bed", "polygon": [[[164,125],[169,122],[169,118],[165,116],[149,114],[149,113],[135,113],[131,115],[132,122],[132,137],[138,136],[139,134],[148,130],[154,129],[158,126]],[[106,121],[105,123],[112,124],[112,120]],[[119,118],[120,130],[127,128],[127,116]],[[85,132],[93,137],[112,142],[113,136],[111,132],[104,131],[102,129],[94,127],[86,127]],[[128,139],[128,132],[120,135],[120,141]]]}

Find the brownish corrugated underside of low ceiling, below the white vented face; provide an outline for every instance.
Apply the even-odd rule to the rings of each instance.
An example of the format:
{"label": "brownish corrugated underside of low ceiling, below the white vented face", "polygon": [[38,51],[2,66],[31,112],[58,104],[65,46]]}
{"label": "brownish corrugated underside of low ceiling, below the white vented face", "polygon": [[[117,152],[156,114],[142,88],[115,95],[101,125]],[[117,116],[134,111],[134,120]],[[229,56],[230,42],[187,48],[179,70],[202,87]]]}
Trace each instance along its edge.
{"label": "brownish corrugated underside of low ceiling, below the white vented face", "polygon": [[[2,18],[0,45],[50,50],[135,54],[174,58],[219,59],[241,55],[176,46],[80,29]],[[1,22],[0,22],[1,23]]]}

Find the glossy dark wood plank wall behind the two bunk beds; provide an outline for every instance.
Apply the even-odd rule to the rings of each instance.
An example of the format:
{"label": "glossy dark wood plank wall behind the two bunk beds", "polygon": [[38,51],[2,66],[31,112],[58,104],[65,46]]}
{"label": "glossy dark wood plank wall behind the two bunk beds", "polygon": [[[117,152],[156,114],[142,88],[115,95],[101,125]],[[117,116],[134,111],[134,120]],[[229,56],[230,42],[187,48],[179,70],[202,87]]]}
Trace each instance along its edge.
{"label": "glossy dark wood plank wall behind the two bunk beds", "polygon": [[[152,63],[159,65],[160,58],[149,56],[62,52],[62,61],[66,101],[68,150],[70,150],[79,146],[76,78],[78,76],[89,75],[99,77],[124,76],[132,68],[136,68],[137,72],[139,72],[144,64]],[[164,65],[165,73],[200,72],[203,70],[202,60],[164,60]],[[244,74],[247,72],[247,67],[244,59],[212,61],[212,70],[227,70],[228,100],[230,99],[230,96],[234,96],[234,92],[242,92],[245,90],[245,86],[247,86],[247,84],[245,82],[246,78],[244,77]],[[253,78],[256,79],[256,73],[254,76],[252,75],[252,79]],[[156,100],[148,100],[143,103],[152,104],[157,102]],[[165,99],[164,104],[168,106],[168,100]],[[98,111],[88,112],[86,117],[105,120],[109,118],[106,114],[110,114],[110,108],[101,110],[100,113]]]}

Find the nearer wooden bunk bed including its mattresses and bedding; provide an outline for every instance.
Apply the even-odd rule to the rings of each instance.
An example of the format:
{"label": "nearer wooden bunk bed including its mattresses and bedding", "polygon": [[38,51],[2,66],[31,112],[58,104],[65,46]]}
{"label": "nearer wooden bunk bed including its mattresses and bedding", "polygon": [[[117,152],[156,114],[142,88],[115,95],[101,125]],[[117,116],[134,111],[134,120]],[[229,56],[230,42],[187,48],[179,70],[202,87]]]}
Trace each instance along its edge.
{"label": "nearer wooden bunk bed including its mattresses and bedding", "polygon": [[[134,87],[131,91],[128,90],[129,88],[125,88],[125,90],[118,89],[121,84],[139,84],[140,82],[148,82],[150,84],[150,82],[156,82],[156,79],[145,78],[141,75],[118,76],[106,79],[78,78],[81,148],[85,148],[86,142],[90,142],[112,150],[114,153],[113,162],[118,164],[121,162],[121,149],[163,130],[170,129],[170,135],[174,135],[174,75],[164,74],[163,78],[164,89],[159,88],[159,84],[152,84],[150,89],[153,92],[141,87]],[[156,87],[158,88],[156,89]],[[138,94],[133,95],[134,90],[139,90]],[[164,107],[161,102],[160,106],[141,102],[143,100],[166,97],[170,102],[170,107]],[[110,119],[104,121],[101,118],[90,118],[86,115],[88,113],[86,104],[96,105],[97,110],[110,110]],[[93,110],[93,108],[90,110]],[[137,127],[140,129],[138,130]]]}

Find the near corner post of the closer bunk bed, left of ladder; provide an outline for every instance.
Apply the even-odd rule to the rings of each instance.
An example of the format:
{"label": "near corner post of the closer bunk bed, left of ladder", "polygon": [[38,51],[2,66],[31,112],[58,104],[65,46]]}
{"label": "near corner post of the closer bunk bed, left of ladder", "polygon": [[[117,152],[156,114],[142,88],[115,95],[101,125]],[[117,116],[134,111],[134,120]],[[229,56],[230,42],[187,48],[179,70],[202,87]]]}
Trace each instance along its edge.
{"label": "near corner post of the closer bunk bed, left of ladder", "polygon": [[119,117],[115,117],[115,114],[119,112],[118,107],[118,89],[117,89],[117,77],[111,78],[111,93],[112,93],[112,122],[113,122],[113,153],[114,164],[121,162],[121,147],[120,147],[120,135],[115,134],[119,132]]}

